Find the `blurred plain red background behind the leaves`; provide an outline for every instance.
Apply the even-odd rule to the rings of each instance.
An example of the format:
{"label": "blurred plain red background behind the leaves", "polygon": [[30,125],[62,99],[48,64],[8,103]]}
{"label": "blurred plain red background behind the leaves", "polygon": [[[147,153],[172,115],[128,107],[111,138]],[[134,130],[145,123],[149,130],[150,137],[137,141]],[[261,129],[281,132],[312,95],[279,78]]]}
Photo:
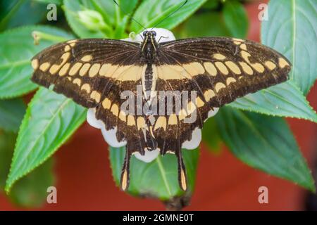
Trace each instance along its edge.
{"label": "blurred plain red background behind the leaves", "polygon": [[[260,41],[259,3],[246,6],[250,27],[248,39]],[[317,86],[308,100],[317,108]],[[287,119],[294,136],[313,168],[317,126],[305,120]],[[165,210],[159,200],[135,198],[116,187],[108,160],[108,146],[99,129],[83,124],[55,155],[57,204],[32,210]],[[268,187],[268,204],[259,204],[258,188]],[[213,155],[201,145],[197,184],[185,210],[304,210],[306,191],[290,181],[252,169],[237,160],[227,148]],[[0,210],[25,210],[0,194]]]}

